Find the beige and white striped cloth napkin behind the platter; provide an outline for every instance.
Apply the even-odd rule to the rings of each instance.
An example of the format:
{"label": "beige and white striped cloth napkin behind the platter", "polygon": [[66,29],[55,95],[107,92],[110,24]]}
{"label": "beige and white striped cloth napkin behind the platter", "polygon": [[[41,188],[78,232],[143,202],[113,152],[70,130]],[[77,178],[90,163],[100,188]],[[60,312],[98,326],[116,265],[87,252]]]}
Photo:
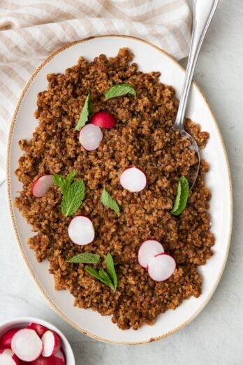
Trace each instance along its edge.
{"label": "beige and white striped cloth napkin behind the platter", "polygon": [[189,52],[186,0],[0,0],[0,15],[0,183],[17,99],[36,66],[61,45],[99,34],[129,34],[177,59]]}

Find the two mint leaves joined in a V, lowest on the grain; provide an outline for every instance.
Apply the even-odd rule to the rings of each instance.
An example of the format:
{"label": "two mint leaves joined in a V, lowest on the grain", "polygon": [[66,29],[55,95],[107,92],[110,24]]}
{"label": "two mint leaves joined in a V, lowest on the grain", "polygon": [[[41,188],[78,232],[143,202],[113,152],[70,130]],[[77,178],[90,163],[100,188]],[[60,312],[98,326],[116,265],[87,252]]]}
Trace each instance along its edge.
{"label": "two mint leaves joined in a V, lowest on the grain", "polygon": [[107,285],[111,289],[115,290],[117,288],[117,273],[115,272],[115,266],[112,259],[112,255],[108,252],[106,256],[106,266],[108,268],[108,273],[105,269],[100,269],[97,271],[93,267],[87,267],[85,270],[91,275],[94,276],[97,280],[103,282],[103,284]]}

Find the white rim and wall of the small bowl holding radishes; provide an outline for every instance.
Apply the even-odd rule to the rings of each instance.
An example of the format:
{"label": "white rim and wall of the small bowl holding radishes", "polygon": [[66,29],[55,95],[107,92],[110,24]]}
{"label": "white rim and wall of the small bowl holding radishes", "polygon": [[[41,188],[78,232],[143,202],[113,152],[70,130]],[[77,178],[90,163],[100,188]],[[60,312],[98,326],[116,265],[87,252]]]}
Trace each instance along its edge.
{"label": "white rim and wall of the small bowl holding radishes", "polygon": [[12,328],[24,328],[27,327],[27,325],[30,322],[42,324],[43,326],[47,327],[47,329],[51,329],[52,331],[57,332],[57,334],[61,338],[61,350],[63,350],[64,355],[66,357],[66,365],[75,365],[75,358],[73,355],[73,350],[71,348],[70,343],[68,342],[67,338],[64,336],[64,334],[57,329],[57,327],[54,327],[53,324],[50,324],[49,322],[46,322],[44,320],[39,320],[38,318],[33,317],[17,317],[13,318],[11,320],[7,320],[0,323],[0,338],[3,336],[3,334],[8,331],[8,329]]}

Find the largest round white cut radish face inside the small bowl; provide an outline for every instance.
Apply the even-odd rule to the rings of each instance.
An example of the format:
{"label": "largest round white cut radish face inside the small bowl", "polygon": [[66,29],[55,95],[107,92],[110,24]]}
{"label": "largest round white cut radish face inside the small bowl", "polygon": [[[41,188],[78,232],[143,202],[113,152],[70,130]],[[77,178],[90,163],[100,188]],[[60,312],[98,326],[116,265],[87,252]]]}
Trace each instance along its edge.
{"label": "largest round white cut radish face inside the small bowl", "polygon": [[43,343],[34,329],[24,328],[13,335],[11,348],[19,359],[33,362],[40,356]]}

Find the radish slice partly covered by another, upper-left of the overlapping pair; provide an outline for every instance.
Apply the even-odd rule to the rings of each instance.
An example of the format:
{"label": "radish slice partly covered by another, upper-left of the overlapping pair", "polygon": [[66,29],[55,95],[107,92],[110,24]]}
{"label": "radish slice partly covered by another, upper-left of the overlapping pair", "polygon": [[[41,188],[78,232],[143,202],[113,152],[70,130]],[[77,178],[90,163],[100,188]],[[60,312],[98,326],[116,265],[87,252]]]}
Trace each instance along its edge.
{"label": "radish slice partly covered by another, upper-left of the overlapping pair", "polygon": [[147,268],[150,260],[163,252],[164,250],[161,243],[155,240],[147,240],[140,245],[140,249],[138,250],[138,262],[142,267]]}

